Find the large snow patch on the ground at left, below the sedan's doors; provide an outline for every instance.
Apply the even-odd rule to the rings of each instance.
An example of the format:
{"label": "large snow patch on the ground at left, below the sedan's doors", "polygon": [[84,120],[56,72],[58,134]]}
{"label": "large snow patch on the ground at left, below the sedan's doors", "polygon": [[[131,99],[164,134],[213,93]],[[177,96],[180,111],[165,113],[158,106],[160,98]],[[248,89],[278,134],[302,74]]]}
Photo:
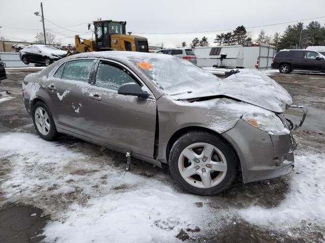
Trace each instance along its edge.
{"label": "large snow patch on the ground at left, below the sedan's doors", "polygon": [[206,207],[194,205],[197,196],[105,164],[112,158],[94,159],[24,133],[0,136],[0,153],[12,167],[3,196],[58,219],[45,228],[46,241],[175,242],[181,228],[208,217]]}

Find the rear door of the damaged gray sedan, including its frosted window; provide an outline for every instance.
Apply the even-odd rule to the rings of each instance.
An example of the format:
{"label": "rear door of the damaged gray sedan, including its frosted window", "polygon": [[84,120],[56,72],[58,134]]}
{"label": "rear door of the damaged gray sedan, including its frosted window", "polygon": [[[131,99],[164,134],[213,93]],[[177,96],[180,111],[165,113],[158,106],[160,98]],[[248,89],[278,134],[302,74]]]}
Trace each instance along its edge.
{"label": "rear door of the damaged gray sedan, including its frosted window", "polygon": [[95,65],[94,59],[68,61],[47,80],[49,103],[58,128],[83,136],[95,129],[94,124],[81,115],[85,103],[91,101],[86,94],[91,87],[90,75]]}

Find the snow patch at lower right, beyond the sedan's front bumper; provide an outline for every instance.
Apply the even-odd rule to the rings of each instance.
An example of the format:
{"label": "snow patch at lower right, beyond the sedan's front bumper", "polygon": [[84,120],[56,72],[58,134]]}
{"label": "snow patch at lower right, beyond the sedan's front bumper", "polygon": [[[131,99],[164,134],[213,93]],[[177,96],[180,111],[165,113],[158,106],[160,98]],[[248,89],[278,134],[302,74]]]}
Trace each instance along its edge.
{"label": "snow patch at lower right, beyond the sedan's front bumper", "polygon": [[239,215],[251,223],[284,229],[302,221],[325,225],[325,154],[304,153],[295,158],[296,173],[291,173],[291,191],[273,209],[251,207]]}

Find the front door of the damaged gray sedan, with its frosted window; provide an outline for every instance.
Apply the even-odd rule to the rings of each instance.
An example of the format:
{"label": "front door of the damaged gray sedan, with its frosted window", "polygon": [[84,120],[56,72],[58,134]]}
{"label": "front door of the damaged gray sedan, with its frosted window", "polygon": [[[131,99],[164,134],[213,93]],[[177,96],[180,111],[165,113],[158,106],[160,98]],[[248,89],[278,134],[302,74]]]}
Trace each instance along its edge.
{"label": "front door of the damaged gray sedan, with its frosted window", "polygon": [[95,86],[85,96],[80,115],[92,124],[89,137],[125,150],[153,157],[156,101],[117,93],[127,83],[141,81],[119,64],[102,61],[98,66]]}

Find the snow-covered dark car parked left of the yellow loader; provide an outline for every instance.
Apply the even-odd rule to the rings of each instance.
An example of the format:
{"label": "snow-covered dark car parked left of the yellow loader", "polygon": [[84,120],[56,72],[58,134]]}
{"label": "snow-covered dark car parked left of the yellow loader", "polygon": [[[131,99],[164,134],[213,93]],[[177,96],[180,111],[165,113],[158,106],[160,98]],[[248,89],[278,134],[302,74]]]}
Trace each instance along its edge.
{"label": "snow-covered dark car parked left of the yellow loader", "polygon": [[67,56],[66,51],[48,45],[32,45],[19,51],[20,60],[24,64],[45,63],[46,66]]}

